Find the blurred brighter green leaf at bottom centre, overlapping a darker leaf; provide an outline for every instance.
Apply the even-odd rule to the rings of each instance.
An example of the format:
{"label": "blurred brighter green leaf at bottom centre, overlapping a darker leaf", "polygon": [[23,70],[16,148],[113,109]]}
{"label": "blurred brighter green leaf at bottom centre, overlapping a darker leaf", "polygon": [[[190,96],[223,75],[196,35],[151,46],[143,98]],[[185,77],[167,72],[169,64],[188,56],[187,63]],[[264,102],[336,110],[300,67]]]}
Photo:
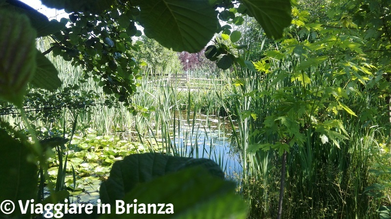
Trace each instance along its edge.
{"label": "blurred brighter green leaf at bottom centre, overlapping a darker leaf", "polygon": [[[128,214],[126,205],[134,206],[135,203],[135,218],[138,219],[245,219],[247,206],[235,194],[235,186],[233,182],[210,175],[202,167],[187,168],[137,184],[122,199],[125,206],[123,214],[116,214],[116,210],[118,213],[124,210],[118,207],[121,204],[111,205],[111,214],[101,219],[128,219],[130,214],[134,214],[134,208],[130,208]],[[153,208],[148,214],[148,204],[158,203],[165,204],[162,209],[165,214],[153,214]],[[156,207],[155,213],[159,208]]]}

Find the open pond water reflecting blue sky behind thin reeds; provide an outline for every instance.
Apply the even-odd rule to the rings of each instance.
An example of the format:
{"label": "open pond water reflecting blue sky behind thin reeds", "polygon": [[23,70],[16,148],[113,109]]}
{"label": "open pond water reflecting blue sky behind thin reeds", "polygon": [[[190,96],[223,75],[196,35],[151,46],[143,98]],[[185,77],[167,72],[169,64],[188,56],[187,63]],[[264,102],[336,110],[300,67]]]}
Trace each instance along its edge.
{"label": "open pond water reflecting blue sky behind thin reeds", "polygon": [[[179,119],[176,119],[178,117]],[[159,136],[161,128],[160,125],[150,133],[151,136]],[[175,125],[171,124],[168,129],[170,143],[167,144],[167,137],[156,139],[160,145],[170,145],[169,151],[166,148],[165,153],[212,159],[229,178],[242,171],[229,120],[214,115],[194,113],[190,113],[188,118],[186,112],[182,111],[180,115],[176,113]]]}

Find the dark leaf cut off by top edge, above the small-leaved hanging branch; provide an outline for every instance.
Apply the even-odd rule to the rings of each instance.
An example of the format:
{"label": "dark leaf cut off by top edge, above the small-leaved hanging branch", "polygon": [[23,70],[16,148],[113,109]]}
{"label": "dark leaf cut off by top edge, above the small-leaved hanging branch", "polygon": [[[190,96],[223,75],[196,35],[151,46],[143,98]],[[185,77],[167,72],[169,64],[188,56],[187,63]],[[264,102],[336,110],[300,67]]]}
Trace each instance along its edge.
{"label": "dark leaf cut off by top edge, above the small-leaved hanging branch", "polygon": [[114,3],[114,0],[42,0],[50,8],[65,9],[66,12],[99,13]]}

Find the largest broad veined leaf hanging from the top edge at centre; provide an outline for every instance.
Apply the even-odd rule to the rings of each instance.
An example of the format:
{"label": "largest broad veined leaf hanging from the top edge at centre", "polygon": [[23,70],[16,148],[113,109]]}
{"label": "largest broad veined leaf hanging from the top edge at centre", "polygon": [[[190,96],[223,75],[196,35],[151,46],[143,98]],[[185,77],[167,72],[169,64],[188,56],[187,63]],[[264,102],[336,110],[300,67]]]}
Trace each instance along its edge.
{"label": "largest broad veined leaf hanging from the top edge at centre", "polygon": [[140,0],[147,37],[174,51],[198,52],[217,31],[217,12],[208,0]]}

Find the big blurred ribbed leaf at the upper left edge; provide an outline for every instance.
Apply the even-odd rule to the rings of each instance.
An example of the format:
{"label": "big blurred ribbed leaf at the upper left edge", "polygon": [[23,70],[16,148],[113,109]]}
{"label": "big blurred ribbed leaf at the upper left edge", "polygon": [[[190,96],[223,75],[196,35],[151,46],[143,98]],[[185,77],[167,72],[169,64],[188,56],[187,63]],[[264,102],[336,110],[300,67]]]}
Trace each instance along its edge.
{"label": "big blurred ribbed leaf at the upper left edge", "polygon": [[36,36],[25,15],[0,10],[0,98],[17,106],[37,66]]}

